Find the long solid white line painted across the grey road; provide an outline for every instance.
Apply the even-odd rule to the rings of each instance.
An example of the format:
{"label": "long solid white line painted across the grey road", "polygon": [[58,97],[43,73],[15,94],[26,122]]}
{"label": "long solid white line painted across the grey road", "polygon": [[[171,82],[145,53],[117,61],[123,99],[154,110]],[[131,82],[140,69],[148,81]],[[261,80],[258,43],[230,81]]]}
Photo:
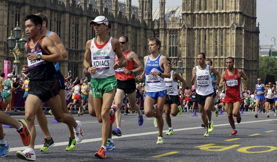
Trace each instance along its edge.
{"label": "long solid white line painted across the grey road", "polygon": [[[277,120],[277,119],[268,119],[268,120],[257,120],[257,121],[249,121],[249,122],[241,122],[239,124],[246,124],[246,123],[256,123],[256,122],[265,122],[265,121],[273,121],[273,120]],[[235,123],[238,124],[238,123]],[[218,125],[214,125],[214,127],[219,127],[219,126],[225,126],[225,125],[230,125],[229,123],[227,124],[218,124]],[[182,130],[192,130],[192,129],[200,129],[202,127],[191,127],[191,128],[181,128],[181,129],[174,129],[174,131],[182,131]],[[168,132],[168,130],[164,130],[163,133]],[[150,135],[150,134],[157,134],[159,133],[158,131],[156,132],[146,132],[146,133],[136,133],[136,134],[128,134],[128,135],[122,135],[120,137],[118,136],[113,136],[113,139],[116,138],[125,138],[125,137],[134,137],[134,136],[140,136],[140,135]],[[86,140],[82,140],[82,142],[80,143],[88,143],[88,142],[95,142],[95,141],[101,141],[102,138],[92,138],[92,139],[86,139]],[[55,146],[66,146],[68,145],[68,142],[58,142],[55,143]],[[41,148],[43,145],[35,145],[34,148]],[[14,148],[10,148],[9,152],[12,151],[22,151],[25,150],[26,147],[14,147]]]}

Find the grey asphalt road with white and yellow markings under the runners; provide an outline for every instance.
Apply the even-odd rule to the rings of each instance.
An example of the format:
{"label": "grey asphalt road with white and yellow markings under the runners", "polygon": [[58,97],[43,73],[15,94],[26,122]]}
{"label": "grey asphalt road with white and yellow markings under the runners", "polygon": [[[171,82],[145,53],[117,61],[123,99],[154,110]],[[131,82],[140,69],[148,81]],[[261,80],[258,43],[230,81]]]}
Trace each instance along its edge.
{"label": "grey asphalt road with white and yellow markings under the runners", "polygon": [[[236,124],[238,135],[230,137],[232,129],[227,115],[214,117],[214,131],[210,137],[204,137],[205,129],[200,127],[201,117],[192,117],[183,113],[172,118],[173,135],[165,135],[168,127],[164,120],[163,145],[157,145],[157,128],[154,118],[144,116],[144,124],[137,124],[137,115],[122,116],[122,136],[113,136],[116,148],[107,151],[108,157],[103,161],[276,161],[277,153],[277,118],[270,112],[265,114],[245,112],[240,124]],[[37,161],[97,161],[94,153],[101,146],[101,127],[95,117],[86,114],[81,117],[73,115],[82,122],[84,140],[77,143],[74,151],[67,152],[68,129],[64,123],[51,123],[53,117],[47,115],[48,127],[55,146],[47,152],[35,149]],[[11,115],[15,119],[22,115]],[[234,118],[235,119],[235,118]],[[236,120],[235,120],[236,121]],[[42,145],[43,135],[35,121],[37,138],[35,145]],[[115,127],[115,126],[114,126]],[[23,161],[17,158],[16,151],[24,150],[22,142],[14,128],[4,128],[10,151],[0,161]],[[204,145],[204,146],[203,146]],[[255,146],[255,147],[254,147]],[[258,146],[258,147],[257,147]],[[153,157],[154,156],[154,157]],[[99,161],[99,160],[98,160]]]}

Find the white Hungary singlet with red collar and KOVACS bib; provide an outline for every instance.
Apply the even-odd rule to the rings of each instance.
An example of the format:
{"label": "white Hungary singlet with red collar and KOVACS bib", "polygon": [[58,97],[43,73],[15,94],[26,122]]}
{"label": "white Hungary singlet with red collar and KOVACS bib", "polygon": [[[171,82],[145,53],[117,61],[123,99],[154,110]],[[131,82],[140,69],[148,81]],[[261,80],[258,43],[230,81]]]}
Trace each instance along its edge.
{"label": "white Hungary singlet with red collar and KOVACS bib", "polygon": [[112,37],[102,45],[98,45],[95,38],[91,41],[90,52],[92,66],[96,66],[96,72],[91,77],[105,78],[115,75],[113,69],[115,52],[113,52],[111,44]]}

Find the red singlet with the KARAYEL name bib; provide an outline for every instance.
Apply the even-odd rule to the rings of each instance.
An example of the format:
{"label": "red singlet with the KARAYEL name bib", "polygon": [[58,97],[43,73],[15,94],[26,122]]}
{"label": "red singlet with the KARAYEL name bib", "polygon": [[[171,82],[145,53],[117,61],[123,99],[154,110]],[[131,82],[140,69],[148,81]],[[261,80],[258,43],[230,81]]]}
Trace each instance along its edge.
{"label": "red singlet with the KARAYEL name bib", "polygon": [[233,76],[228,75],[227,70],[225,70],[225,84],[226,84],[226,94],[229,97],[241,97],[240,90],[240,77],[238,76],[238,69],[235,68],[235,74]]}

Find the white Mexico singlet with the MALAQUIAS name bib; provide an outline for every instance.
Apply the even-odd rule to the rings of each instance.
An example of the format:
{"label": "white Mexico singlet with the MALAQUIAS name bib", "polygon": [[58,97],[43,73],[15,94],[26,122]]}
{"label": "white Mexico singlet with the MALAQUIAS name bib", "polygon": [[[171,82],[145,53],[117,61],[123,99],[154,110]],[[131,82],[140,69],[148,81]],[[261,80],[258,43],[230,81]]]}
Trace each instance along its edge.
{"label": "white Mexico singlet with the MALAQUIAS name bib", "polygon": [[210,65],[206,65],[205,69],[196,66],[196,93],[202,96],[209,95],[214,92],[212,88],[212,76],[210,73]]}

